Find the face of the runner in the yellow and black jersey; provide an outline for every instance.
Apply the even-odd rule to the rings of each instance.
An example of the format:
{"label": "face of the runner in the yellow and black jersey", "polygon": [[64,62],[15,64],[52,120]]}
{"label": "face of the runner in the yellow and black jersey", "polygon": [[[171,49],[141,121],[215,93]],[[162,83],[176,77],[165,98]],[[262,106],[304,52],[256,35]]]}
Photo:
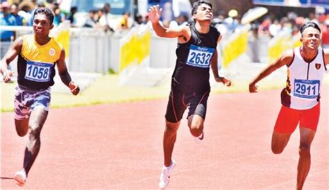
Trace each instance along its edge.
{"label": "face of the runner in the yellow and black jersey", "polygon": [[49,19],[44,14],[37,14],[33,19],[33,31],[37,36],[48,36],[49,31],[53,28]]}

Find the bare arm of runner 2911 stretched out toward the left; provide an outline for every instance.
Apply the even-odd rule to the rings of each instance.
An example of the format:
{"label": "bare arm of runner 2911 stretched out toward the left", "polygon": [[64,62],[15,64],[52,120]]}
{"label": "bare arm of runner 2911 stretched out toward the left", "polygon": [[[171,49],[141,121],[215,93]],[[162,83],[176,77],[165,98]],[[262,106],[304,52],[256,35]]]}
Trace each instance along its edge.
{"label": "bare arm of runner 2911 stretched out toward the left", "polygon": [[278,60],[273,62],[272,64],[269,64],[268,67],[266,67],[263,71],[254,78],[251,83],[249,84],[249,92],[257,92],[257,86],[256,84],[258,81],[262,80],[263,78],[269,76],[273,71],[276,71],[276,69],[279,69],[280,67],[284,65],[288,65],[292,62],[292,59],[294,58],[294,52],[293,50],[286,51],[282,54]]}

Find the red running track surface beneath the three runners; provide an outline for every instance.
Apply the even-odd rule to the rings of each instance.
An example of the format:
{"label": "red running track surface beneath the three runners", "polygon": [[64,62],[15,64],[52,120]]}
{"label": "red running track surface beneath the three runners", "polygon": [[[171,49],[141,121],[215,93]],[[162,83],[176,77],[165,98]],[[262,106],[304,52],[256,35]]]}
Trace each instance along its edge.
{"label": "red running track surface beneath the three runners", "polygon": [[[271,153],[280,91],[210,94],[205,139],[196,144],[186,119],[174,149],[176,169],[167,189],[294,189],[296,130],[281,155]],[[24,188],[21,169],[27,137],[18,137],[12,113],[2,114],[2,189],[157,189],[167,100],[53,109]],[[185,118],[185,116],[184,116]],[[329,189],[328,86],[312,144],[305,189]]]}

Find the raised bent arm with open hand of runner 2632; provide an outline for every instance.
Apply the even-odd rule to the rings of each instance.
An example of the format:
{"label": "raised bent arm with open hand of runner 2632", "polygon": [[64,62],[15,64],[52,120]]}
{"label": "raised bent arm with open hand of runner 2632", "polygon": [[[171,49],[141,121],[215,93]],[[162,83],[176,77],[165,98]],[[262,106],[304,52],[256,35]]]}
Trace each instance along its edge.
{"label": "raised bent arm with open hand of runner 2632", "polygon": [[162,9],[159,6],[151,6],[149,9],[149,18],[153,29],[159,37],[178,37],[180,43],[187,42],[191,37],[189,26],[179,26],[176,28],[165,28],[159,23]]}

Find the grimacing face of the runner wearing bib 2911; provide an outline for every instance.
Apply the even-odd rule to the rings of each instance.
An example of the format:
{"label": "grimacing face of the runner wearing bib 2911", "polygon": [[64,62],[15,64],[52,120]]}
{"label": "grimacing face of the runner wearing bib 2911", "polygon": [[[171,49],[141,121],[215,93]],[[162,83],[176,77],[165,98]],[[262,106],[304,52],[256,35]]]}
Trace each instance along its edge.
{"label": "grimacing face of the runner wearing bib 2911", "polygon": [[321,44],[321,33],[313,27],[305,28],[302,33],[301,42],[308,49],[318,49]]}

